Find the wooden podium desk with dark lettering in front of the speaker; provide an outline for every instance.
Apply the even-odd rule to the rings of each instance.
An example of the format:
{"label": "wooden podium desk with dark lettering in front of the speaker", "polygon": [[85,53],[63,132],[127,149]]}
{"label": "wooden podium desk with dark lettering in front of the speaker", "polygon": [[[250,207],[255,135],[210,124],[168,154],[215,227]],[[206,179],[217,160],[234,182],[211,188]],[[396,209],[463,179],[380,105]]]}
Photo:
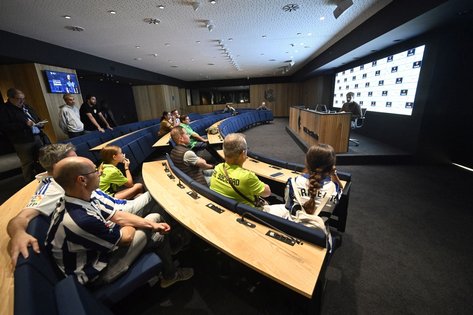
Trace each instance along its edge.
{"label": "wooden podium desk with dark lettering in front of the speaker", "polygon": [[289,127],[309,145],[331,145],[336,153],[348,152],[351,113],[325,114],[297,107],[289,108]]}

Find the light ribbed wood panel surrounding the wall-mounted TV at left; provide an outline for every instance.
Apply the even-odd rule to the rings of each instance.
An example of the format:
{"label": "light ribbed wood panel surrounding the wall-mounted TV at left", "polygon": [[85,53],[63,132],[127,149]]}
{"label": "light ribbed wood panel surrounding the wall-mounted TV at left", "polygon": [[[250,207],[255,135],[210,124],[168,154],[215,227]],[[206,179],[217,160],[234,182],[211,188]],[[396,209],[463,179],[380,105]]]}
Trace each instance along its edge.
{"label": "light ribbed wood panel surrounding the wall-mounted TV at left", "polygon": [[[61,128],[59,128],[59,113],[61,110],[59,109],[59,106],[65,104],[64,100],[62,99],[62,93],[51,93],[49,90],[49,83],[48,80],[46,79],[46,76],[44,75],[44,70],[51,70],[51,71],[58,71],[58,72],[65,72],[65,73],[70,73],[70,74],[76,74],[76,70],[73,69],[68,69],[68,68],[61,68],[61,67],[53,67],[53,66],[47,66],[47,65],[42,65],[35,63],[35,69],[37,73],[37,77],[39,79],[39,83],[41,85],[41,90],[43,91],[44,95],[44,101],[49,113],[48,120],[49,122],[45,124],[44,129],[45,130],[51,130],[53,129],[53,133],[55,135],[55,140],[53,141],[53,138],[51,138],[52,142],[56,141],[62,141],[69,139],[69,136],[66,136]],[[80,80],[79,81],[79,90],[80,90]],[[80,105],[82,104],[82,95],[81,94],[72,94],[74,95],[74,99],[76,101],[77,108],[80,108]],[[41,116],[41,119],[43,116]],[[50,136],[51,133],[48,133],[48,136]],[[51,137],[51,136],[50,136]]]}

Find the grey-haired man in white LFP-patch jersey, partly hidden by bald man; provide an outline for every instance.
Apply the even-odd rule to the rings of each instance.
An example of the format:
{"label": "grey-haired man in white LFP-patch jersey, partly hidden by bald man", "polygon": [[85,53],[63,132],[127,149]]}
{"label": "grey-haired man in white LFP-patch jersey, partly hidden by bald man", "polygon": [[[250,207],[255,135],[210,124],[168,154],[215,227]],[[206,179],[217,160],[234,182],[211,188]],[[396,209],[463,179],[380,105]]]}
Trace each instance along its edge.
{"label": "grey-haired man in white LFP-patch jersey, partly hidden by bald man", "polygon": [[[31,197],[25,208],[16,217],[9,221],[7,226],[8,234],[11,238],[11,261],[15,267],[19,253],[25,258],[28,257],[28,247],[33,247],[39,253],[38,241],[33,236],[26,233],[29,221],[39,214],[50,216],[59,199],[64,196],[64,189],[53,179],[53,168],[57,162],[68,156],[77,156],[74,145],[52,144],[40,150],[39,162],[46,172],[36,175],[38,185],[36,192]],[[130,212],[141,217],[149,214],[156,204],[149,192],[144,193],[135,200],[127,201],[108,196],[97,189],[92,192],[92,198],[99,201],[102,207]]]}

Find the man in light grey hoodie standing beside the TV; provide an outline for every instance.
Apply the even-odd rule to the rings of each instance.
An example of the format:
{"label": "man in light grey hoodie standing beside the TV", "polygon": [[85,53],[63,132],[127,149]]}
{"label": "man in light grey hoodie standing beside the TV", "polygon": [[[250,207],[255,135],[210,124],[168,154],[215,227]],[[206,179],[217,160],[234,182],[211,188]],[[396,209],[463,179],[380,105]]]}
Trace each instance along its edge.
{"label": "man in light grey hoodie standing beside the TV", "polygon": [[74,96],[66,93],[62,98],[66,103],[59,107],[61,109],[59,113],[59,127],[70,138],[84,135],[84,124],[80,121],[79,109],[74,106],[76,103]]}

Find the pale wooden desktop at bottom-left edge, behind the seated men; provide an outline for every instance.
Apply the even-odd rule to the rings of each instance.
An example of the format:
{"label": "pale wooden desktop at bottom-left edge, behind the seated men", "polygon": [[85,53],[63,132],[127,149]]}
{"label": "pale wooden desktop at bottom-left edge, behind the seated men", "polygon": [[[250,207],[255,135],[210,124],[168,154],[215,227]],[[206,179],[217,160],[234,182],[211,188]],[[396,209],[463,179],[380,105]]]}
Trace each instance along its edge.
{"label": "pale wooden desktop at bottom-left edge, behind the seated men", "polygon": [[0,205],[0,292],[2,292],[0,314],[13,315],[14,281],[10,257],[11,244],[10,237],[7,234],[7,225],[23,209],[26,203],[31,200],[37,185],[38,181],[35,179]]}

